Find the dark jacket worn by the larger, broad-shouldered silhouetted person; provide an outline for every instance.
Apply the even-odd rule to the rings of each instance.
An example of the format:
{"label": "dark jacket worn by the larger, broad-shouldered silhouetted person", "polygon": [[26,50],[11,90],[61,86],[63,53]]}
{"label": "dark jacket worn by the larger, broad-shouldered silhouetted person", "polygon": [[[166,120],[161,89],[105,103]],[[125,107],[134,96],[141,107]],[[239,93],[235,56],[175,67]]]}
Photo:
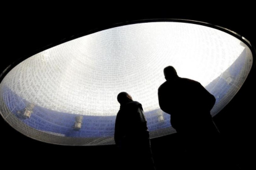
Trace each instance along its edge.
{"label": "dark jacket worn by the larger, broad-shouldered silhouetted person", "polygon": [[171,115],[171,125],[176,130],[212,121],[210,110],[216,101],[197,81],[179,77],[159,87],[158,100],[161,110]]}

